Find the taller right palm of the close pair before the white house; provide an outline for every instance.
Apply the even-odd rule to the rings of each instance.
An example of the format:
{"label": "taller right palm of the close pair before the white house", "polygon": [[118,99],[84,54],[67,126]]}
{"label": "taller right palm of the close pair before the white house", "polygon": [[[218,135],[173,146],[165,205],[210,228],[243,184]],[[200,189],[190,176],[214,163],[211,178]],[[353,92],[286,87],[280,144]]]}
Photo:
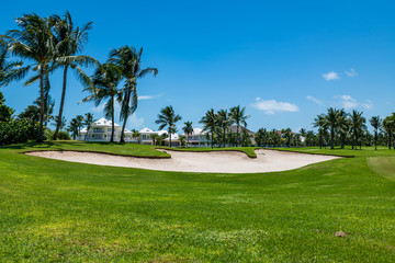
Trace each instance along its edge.
{"label": "taller right palm of the close pair before the white house", "polygon": [[110,54],[109,61],[119,66],[122,71],[122,76],[125,79],[123,88],[123,100],[121,106],[121,121],[124,123],[121,130],[121,142],[124,140],[124,130],[126,122],[129,115],[132,115],[137,108],[138,95],[137,95],[137,79],[143,78],[147,73],[157,76],[157,68],[140,68],[143,48],[139,52],[134,47],[123,46],[121,48],[113,49]]}

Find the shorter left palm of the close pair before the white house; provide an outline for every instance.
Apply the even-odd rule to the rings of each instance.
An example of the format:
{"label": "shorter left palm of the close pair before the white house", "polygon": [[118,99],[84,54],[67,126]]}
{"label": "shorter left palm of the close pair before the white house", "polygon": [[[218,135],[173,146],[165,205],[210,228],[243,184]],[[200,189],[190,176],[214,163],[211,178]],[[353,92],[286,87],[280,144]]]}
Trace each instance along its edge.
{"label": "shorter left palm of the close pair before the white house", "polygon": [[83,91],[88,91],[91,95],[83,99],[81,102],[94,101],[95,106],[99,106],[103,100],[106,100],[104,105],[105,117],[112,122],[112,132],[110,141],[114,141],[114,106],[115,99],[121,98],[121,92],[117,85],[122,79],[121,69],[113,64],[103,64],[94,72],[92,77],[93,85],[86,88]]}

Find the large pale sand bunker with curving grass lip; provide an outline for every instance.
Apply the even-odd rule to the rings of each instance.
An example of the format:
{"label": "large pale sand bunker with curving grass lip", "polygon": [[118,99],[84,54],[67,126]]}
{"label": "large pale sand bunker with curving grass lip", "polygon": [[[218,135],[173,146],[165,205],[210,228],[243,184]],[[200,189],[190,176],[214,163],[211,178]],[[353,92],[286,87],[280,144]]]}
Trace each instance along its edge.
{"label": "large pale sand bunker with curving grass lip", "polygon": [[34,151],[26,155],[98,165],[142,168],[159,171],[258,173],[285,171],[339,157],[256,150],[257,158],[237,151],[187,152],[163,150],[170,159],[148,159],[78,151]]}

